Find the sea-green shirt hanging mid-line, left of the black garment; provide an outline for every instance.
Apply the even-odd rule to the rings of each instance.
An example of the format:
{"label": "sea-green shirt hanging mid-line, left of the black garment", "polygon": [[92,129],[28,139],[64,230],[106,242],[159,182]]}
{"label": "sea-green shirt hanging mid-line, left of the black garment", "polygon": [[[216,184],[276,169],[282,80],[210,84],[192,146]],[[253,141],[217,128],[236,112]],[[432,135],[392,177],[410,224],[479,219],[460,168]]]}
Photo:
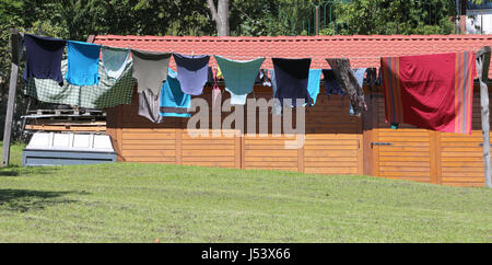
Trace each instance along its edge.
{"label": "sea-green shirt hanging mid-line, left of the black garment", "polygon": [[225,90],[231,93],[231,104],[244,105],[265,58],[231,60],[215,55],[215,60],[222,69]]}

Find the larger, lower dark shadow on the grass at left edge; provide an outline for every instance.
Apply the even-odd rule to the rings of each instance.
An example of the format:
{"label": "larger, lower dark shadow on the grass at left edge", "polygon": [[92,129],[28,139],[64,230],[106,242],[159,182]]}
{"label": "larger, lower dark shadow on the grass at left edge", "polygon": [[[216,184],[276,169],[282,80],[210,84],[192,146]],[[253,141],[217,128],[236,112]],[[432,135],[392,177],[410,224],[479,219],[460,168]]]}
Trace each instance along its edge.
{"label": "larger, lower dark shadow on the grass at left edge", "polygon": [[47,206],[72,204],[78,200],[63,198],[68,194],[87,195],[86,192],[46,192],[31,189],[0,189],[0,210],[25,212]]}

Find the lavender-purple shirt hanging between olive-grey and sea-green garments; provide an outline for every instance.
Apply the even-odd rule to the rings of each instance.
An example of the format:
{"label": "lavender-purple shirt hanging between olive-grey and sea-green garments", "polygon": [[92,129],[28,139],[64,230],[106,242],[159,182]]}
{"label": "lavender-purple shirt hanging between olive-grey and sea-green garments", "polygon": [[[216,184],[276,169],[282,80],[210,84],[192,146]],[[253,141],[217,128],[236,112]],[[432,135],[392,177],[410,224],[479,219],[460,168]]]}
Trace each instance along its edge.
{"label": "lavender-purple shirt hanging between olive-grey and sea-green garments", "polygon": [[189,95],[201,94],[209,77],[210,56],[173,54],[173,57],[176,61],[177,79],[181,91]]}

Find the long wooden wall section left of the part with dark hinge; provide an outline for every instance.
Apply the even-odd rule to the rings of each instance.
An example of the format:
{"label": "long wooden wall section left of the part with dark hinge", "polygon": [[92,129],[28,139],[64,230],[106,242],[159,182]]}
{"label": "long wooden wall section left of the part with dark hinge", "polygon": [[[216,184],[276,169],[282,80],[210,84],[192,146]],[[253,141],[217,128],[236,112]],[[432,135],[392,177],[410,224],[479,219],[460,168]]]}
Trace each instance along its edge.
{"label": "long wooden wall section left of the part with dark hinge", "polygon": [[[211,104],[210,88],[206,99]],[[204,166],[267,169],[300,171],[323,174],[362,174],[362,120],[349,115],[348,97],[324,93],[318,95],[314,107],[306,110],[305,136],[272,135],[272,115],[268,114],[268,135],[241,134],[234,126],[222,131],[221,137],[192,137],[187,129],[188,118],[165,118],[163,124],[153,124],[138,115],[138,94],[130,105],[107,110],[107,134],[114,140],[118,161],[157,162]],[[271,88],[256,87],[253,96],[271,99]],[[223,92],[223,100],[229,97]],[[231,112],[222,112],[224,122]],[[256,115],[259,131],[260,117]],[[293,112],[295,117],[295,111]],[[244,113],[247,132],[247,107]],[[294,126],[295,125],[294,118]],[[209,116],[212,128],[212,113]],[[232,137],[224,132],[238,132]],[[294,146],[304,142],[297,149]]]}

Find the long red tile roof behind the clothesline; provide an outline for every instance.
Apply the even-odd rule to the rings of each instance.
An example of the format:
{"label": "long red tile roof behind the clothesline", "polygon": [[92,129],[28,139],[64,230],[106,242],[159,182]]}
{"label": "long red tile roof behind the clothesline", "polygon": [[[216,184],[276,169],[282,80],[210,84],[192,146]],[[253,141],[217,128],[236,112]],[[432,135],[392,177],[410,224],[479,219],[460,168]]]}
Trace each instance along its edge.
{"label": "long red tile roof behind the clothesline", "polygon": [[[477,51],[492,46],[492,35],[353,35],[353,36],[278,36],[278,37],[191,37],[97,35],[94,43],[153,51],[221,55],[247,60],[267,57],[262,68],[272,68],[271,57],[312,57],[311,68],[329,68],[324,58],[347,57],[353,68],[379,67],[387,56]],[[212,67],[215,59],[210,60]],[[169,67],[175,69],[174,61]],[[492,73],[492,65],[491,70]]]}

